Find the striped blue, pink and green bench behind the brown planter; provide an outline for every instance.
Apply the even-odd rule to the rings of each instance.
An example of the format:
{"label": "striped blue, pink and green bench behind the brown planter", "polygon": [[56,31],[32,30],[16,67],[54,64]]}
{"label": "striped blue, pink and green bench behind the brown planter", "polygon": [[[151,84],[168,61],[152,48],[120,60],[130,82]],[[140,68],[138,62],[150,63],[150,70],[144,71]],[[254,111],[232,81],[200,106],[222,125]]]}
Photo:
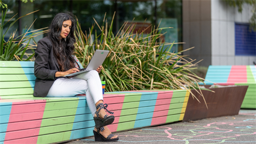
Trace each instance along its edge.
{"label": "striped blue, pink and green bench behind the brown planter", "polygon": [[209,66],[205,79],[206,85],[249,85],[241,108],[256,109],[256,66]]}

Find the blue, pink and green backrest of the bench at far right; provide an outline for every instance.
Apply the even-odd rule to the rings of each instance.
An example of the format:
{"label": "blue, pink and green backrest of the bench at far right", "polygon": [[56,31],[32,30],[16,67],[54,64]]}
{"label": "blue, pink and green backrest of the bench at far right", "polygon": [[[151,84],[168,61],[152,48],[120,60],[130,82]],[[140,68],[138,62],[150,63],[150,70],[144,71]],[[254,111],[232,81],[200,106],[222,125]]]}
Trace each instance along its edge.
{"label": "blue, pink and green backrest of the bench at far right", "polygon": [[209,66],[205,79],[205,84],[256,83],[256,66]]}

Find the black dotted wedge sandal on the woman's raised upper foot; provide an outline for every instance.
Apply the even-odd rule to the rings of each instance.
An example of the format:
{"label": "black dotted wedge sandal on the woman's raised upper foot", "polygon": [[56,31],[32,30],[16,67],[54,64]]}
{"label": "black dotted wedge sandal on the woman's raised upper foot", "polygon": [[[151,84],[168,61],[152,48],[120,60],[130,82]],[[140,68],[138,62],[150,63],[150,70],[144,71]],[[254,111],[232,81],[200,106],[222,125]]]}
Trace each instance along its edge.
{"label": "black dotted wedge sandal on the woman's raised upper foot", "polygon": [[[107,107],[108,107],[107,103],[105,103],[105,105],[103,105],[103,103],[99,103],[99,105],[97,105],[96,109],[98,109],[98,108],[100,108],[100,109],[95,112],[97,117],[93,117],[96,129],[99,129],[102,126],[106,126],[106,125],[109,125],[114,122],[114,120],[115,120],[115,116],[113,116],[114,113],[107,110]],[[99,113],[102,108],[106,109],[108,111],[108,113],[112,114],[112,115],[110,115],[110,116],[105,115],[104,118],[100,118]]]}

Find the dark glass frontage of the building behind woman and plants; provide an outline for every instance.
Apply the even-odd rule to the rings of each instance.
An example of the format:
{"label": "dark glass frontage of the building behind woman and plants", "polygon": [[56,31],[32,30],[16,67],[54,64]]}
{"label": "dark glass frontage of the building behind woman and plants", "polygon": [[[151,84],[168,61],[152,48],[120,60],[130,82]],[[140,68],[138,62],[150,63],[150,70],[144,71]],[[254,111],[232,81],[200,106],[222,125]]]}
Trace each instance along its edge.
{"label": "dark glass frontage of the building behind woman and plants", "polygon": [[[10,11],[13,11],[13,14],[18,12],[18,0],[8,1],[7,4],[11,7]],[[155,5],[157,5],[156,18]],[[113,14],[116,11],[113,22],[114,34],[117,33],[125,21],[129,21],[130,23],[132,21],[137,22],[137,30],[141,28],[143,23],[145,23],[146,28],[150,25],[154,26],[155,23],[158,25],[161,21],[160,27],[173,27],[173,29],[163,30],[163,33],[167,31],[167,34],[162,37],[164,42],[182,42],[182,0],[36,0],[33,3],[21,3],[21,15],[36,10],[39,11],[21,19],[22,30],[25,30],[25,27],[30,27],[35,19],[36,21],[31,26],[31,30],[48,27],[55,14],[72,11],[79,20],[79,23],[81,23],[83,31],[86,30],[88,34],[89,29],[94,23],[93,18],[101,26],[106,13],[107,22],[110,25]],[[10,14],[9,17],[13,16],[13,14]],[[17,29],[18,23],[13,27]],[[97,30],[97,35],[99,35],[100,30],[97,25],[95,25],[92,34],[95,34],[95,30]],[[36,41],[44,36],[46,34],[38,36]],[[182,45],[175,45],[171,51],[178,52],[178,50],[182,50]]]}

